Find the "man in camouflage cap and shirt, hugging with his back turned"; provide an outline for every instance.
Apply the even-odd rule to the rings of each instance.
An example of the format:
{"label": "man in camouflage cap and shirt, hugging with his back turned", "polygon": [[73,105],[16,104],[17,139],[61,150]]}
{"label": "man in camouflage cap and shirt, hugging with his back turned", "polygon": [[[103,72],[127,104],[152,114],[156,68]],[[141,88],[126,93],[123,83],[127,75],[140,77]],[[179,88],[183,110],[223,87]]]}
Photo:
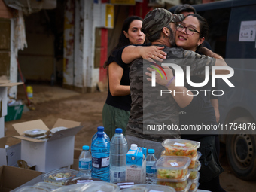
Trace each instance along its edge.
{"label": "man in camouflage cap and shirt, hugging with his back turned", "polygon": [[[175,45],[175,23],[181,22],[183,19],[183,14],[172,14],[166,9],[156,8],[148,12],[143,20],[142,30],[148,40],[152,45],[164,47],[163,51],[167,53],[166,60],[163,62],[176,63],[181,66],[184,73],[186,66],[190,66],[190,75],[204,75],[205,66],[209,66],[209,69],[214,65],[227,66],[221,56],[220,59],[215,59],[201,56],[193,51],[172,47]],[[130,54],[131,48],[133,54]],[[137,49],[138,52],[135,51]],[[135,56],[134,53],[138,55]],[[139,58],[139,54],[139,47],[126,47],[123,49],[123,62],[130,63],[133,59]],[[126,58],[123,58],[123,55]],[[154,148],[157,157],[160,157],[160,153],[163,151],[161,142],[167,138],[179,138],[179,130],[175,130],[175,128],[178,126],[179,107],[183,106],[178,105],[171,94],[160,96],[160,90],[166,90],[166,87],[159,84],[152,87],[151,82],[147,81],[145,72],[151,64],[141,58],[134,60],[130,66],[132,104],[130,120],[126,128],[126,140],[128,145],[136,143],[140,147]],[[160,65],[160,63],[158,64]],[[179,92],[186,89],[185,87],[176,88]],[[181,103],[181,105],[186,105],[186,103]],[[175,127],[163,130],[167,125]]]}

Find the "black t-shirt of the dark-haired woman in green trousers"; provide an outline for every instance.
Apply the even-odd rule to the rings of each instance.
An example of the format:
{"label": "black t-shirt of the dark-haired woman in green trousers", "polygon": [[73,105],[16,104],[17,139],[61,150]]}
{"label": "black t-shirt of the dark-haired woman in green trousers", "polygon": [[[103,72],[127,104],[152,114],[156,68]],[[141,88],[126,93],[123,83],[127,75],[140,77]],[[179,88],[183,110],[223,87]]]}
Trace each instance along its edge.
{"label": "black t-shirt of the dark-haired woman in green trousers", "polygon": [[[130,66],[126,65],[124,62],[120,61],[119,59],[116,59],[116,56],[117,56],[117,51],[114,51],[114,53],[112,53],[112,56],[109,57],[108,63],[117,62],[117,64],[121,68],[123,68],[123,76],[121,78],[120,84],[130,85],[130,80],[129,80]],[[108,82],[108,87],[109,87],[109,82]],[[125,111],[130,111],[131,102],[132,100],[131,100],[130,94],[126,96],[112,96],[110,93],[110,90],[108,89],[108,97],[105,101],[106,104],[111,105],[115,108],[120,108]]]}

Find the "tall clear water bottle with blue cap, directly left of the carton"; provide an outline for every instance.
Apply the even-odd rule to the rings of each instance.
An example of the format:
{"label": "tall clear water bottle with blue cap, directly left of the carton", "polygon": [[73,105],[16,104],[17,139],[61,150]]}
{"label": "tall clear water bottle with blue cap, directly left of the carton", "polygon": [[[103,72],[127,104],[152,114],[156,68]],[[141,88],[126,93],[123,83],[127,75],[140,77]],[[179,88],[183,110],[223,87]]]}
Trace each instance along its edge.
{"label": "tall clear water bottle with blue cap, directly left of the carton", "polygon": [[126,181],[126,153],[128,144],[123,130],[117,128],[110,142],[110,181],[117,183]]}

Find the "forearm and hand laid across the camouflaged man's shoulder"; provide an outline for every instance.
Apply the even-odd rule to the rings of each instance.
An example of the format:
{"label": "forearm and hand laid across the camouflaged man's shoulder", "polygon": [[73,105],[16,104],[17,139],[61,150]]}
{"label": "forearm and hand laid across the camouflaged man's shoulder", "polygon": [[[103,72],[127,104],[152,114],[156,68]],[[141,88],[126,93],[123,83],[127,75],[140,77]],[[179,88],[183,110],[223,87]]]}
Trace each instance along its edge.
{"label": "forearm and hand laid across the camouflaged man's shoulder", "polygon": [[158,46],[127,46],[123,49],[122,60],[128,64],[135,59],[143,58],[149,62],[155,62],[153,59],[162,62],[166,59],[166,53],[163,52],[164,47]]}

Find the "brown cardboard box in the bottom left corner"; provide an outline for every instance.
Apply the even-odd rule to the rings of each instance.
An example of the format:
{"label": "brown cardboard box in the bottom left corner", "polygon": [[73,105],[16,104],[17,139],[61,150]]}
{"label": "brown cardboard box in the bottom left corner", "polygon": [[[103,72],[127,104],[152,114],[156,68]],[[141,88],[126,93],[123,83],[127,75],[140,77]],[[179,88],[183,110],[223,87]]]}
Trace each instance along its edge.
{"label": "brown cardboard box in the bottom left corner", "polygon": [[0,191],[7,192],[41,175],[41,172],[14,166],[0,167]]}

